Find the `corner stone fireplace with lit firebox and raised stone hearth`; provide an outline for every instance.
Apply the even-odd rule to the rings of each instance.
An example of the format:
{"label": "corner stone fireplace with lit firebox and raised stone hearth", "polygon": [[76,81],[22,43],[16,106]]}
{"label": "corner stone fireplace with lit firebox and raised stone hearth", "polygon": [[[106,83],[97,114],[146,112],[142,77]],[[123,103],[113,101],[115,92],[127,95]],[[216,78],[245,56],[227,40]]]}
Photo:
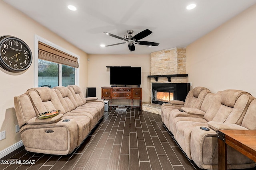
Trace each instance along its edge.
{"label": "corner stone fireplace with lit firebox and raised stone hearth", "polygon": [[[150,103],[143,104],[142,110],[161,114],[161,104],[169,100],[185,100],[189,91],[188,74],[186,74],[186,47],[175,47],[156,51],[150,54],[151,57],[151,75],[150,78]],[[186,75],[185,75],[186,74]],[[155,77],[156,75],[157,78]],[[182,76],[180,76],[182,75]],[[185,95],[181,97],[177,90],[177,84],[183,84]],[[163,87],[159,90],[159,87]],[[156,87],[158,88],[156,89]],[[187,91],[188,90],[188,91]],[[164,96],[162,96],[164,95]]]}

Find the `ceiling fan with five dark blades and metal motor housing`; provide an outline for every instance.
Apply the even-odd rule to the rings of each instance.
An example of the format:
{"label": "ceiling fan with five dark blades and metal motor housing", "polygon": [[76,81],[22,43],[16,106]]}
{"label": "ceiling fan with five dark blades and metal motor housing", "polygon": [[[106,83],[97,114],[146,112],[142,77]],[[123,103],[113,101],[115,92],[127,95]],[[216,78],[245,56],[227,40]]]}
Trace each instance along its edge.
{"label": "ceiling fan with five dark blades and metal motor housing", "polygon": [[113,35],[111,33],[107,33],[104,32],[106,35],[109,35],[111,37],[115,37],[118,39],[122,39],[126,42],[123,43],[117,43],[117,44],[112,44],[112,45],[106,45],[105,47],[109,47],[109,46],[113,46],[113,45],[119,45],[119,44],[125,44],[128,43],[128,48],[130,51],[134,51],[135,50],[135,46],[134,44],[139,44],[139,45],[148,45],[148,46],[158,46],[159,43],[154,43],[154,42],[149,42],[149,41],[138,41],[142,38],[145,38],[146,36],[150,35],[152,33],[152,31],[150,31],[149,29],[145,29],[144,31],[141,31],[140,33],[133,35],[133,30],[127,30],[127,34],[124,35],[124,38],[119,37],[117,35]]}

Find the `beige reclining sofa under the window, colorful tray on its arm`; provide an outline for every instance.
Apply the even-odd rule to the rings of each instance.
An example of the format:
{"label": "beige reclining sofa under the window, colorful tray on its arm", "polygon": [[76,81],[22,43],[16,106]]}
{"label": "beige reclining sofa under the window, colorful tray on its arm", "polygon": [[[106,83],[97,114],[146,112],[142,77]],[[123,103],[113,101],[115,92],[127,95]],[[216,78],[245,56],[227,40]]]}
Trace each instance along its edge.
{"label": "beige reclining sofa under the window, colorful tray on its arm", "polygon": [[[31,88],[14,97],[14,106],[24,147],[45,154],[70,154],[104,114],[104,102],[85,98],[76,85]],[[38,119],[40,113],[51,110],[60,113]]]}

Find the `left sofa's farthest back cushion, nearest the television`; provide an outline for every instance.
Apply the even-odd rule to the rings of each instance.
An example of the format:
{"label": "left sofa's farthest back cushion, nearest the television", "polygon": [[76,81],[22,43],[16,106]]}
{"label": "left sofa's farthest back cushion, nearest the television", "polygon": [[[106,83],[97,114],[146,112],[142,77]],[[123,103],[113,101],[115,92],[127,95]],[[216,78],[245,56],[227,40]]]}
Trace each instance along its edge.
{"label": "left sofa's farthest back cushion, nearest the television", "polygon": [[74,96],[74,99],[76,100],[76,104],[74,103],[75,107],[82,106],[86,104],[86,100],[84,97],[84,93],[82,92],[81,88],[76,85],[68,85],[67,86],[72,95]]}

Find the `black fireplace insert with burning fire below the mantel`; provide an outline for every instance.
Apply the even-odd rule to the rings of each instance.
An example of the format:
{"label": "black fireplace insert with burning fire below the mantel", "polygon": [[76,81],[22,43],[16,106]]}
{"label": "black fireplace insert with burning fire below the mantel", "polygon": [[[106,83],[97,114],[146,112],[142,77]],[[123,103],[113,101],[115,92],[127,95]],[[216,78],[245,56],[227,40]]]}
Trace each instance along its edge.
{"label": "black fireplace insert with burning fire below the mantel", "polygon": [[185,101],[189,83],[152,83],[152,103],[163,104],[171,100]]}

